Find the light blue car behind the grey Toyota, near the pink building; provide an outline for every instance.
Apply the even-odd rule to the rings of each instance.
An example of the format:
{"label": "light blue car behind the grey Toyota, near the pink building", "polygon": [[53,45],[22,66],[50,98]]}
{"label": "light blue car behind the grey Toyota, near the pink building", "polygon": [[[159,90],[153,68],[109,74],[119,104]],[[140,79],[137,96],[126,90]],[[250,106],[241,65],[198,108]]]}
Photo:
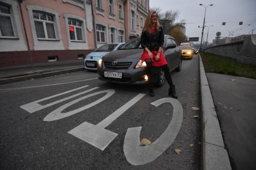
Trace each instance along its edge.
{"label": "light blue car behind the grey Toyota, near the pink building", "polygon": [[114,50],[119,50],[123,44],[125,43],[112,43],[98,47],[98,49],[95,49],[84,58],[84,68],[87,70],[97,70],[99,58]]}

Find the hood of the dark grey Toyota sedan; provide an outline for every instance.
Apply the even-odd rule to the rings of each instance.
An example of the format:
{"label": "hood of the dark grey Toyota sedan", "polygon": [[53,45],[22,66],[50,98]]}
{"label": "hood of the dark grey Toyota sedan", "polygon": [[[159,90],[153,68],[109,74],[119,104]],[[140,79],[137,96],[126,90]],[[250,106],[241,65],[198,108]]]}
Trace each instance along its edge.
{"label": "hood of the dark grey Toyota sedan", "polygon": [[108,53],[102,59],[105,58],[113,58],[113,59],[119,59],[119,58],[141,58],[143,49],[127,49],[127,50],[116,50],[114,52]]}

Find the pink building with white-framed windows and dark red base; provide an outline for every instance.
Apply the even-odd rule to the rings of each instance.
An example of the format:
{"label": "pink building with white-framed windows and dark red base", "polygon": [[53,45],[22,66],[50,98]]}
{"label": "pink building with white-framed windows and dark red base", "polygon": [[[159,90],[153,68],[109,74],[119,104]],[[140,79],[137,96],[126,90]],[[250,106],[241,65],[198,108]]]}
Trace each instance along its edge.
{"label": "pink building with white-framed windows and dark red base", "polygon": [[0,67],[29,64],[30,55],[34,63],[83,58],[127,41],[141,34],[148,9],[148,0],[0,0]]}

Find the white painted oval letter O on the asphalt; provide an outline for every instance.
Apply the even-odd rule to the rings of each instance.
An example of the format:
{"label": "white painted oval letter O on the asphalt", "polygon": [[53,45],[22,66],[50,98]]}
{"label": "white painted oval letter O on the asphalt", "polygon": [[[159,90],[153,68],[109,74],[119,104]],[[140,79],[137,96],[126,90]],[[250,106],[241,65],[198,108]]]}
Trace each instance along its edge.
{"label": "white painted oval letter O on the asphalt", "polygon": [[[69,112],[66,112],[66,113],[61,113],[61,111],[63,111],[64,109],[66,109],[67,107],[77,103],[77,102],[80,102],[81,100],[84,100],[84,99],[87,99],[89,97],[92,97],[92,96],[96,96],[98,94],[101,94],[101,93],[107,93],[105,96],[101,97],[100,99],[96,100],[95,102],[92,102],[86,106],[83,106],[81,108],[78,108],[78,109],[75,109],[73,111],[69,111]],[[102,91],[98,91],[98,92],[95,92],[95,93],[92,93],[92,94],[88,94],[87,96],[83,96],[83,97],[80,97],[78,99],[75,99],[69,103],[66,103],[65,105],[63,106],[60,106],[60,108],[57,108],[55,109],[54,111],[52,111],[51,113],[49,113],[44,119],[43,121],[54,121],[54,120],[60,120],[62,118],[66,118],[66,117],[69,117],[73,114],[77,114],[78,112],[81,112],[81,111],[84,111],[86,109],[89,109],[91,108],[92,106],[95,106],[97,105],[98,103],[101,103],[102,101],[108,99],[108,97],[112,96],[114,94],[114,90],[102,90]]]}

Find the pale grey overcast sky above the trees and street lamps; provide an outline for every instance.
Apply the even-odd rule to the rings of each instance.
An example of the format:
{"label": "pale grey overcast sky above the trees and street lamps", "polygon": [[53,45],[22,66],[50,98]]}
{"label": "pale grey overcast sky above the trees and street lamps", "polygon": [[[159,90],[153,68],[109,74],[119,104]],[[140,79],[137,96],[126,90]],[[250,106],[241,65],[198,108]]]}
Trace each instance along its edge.
{"label": "pale grey overcast sky above the trees and street lamps", "polygon": [[[207,7],[205,25],[214,25],[209,29],[208,41],[216,37],[216,32],[221,32],[221,37],[235,37],[241,34],[251,34],[252,26],[256,28],[256,0],[149,0],[149,7],[160,7],[161,11],[178,10],[180,15],[176,22],[186,21],[187,37],[201,37],[204,21],[204,7]],[[222,22],[226,22],[223,26]],[[243,25],[239,25],[243,22]],[[205,40],[207,29],[205,29]],[[229,36],[233,31],[233,36]],[[249,33],[250,32],[250,33]],[[256,30],[254,30],[256,34]]]}

